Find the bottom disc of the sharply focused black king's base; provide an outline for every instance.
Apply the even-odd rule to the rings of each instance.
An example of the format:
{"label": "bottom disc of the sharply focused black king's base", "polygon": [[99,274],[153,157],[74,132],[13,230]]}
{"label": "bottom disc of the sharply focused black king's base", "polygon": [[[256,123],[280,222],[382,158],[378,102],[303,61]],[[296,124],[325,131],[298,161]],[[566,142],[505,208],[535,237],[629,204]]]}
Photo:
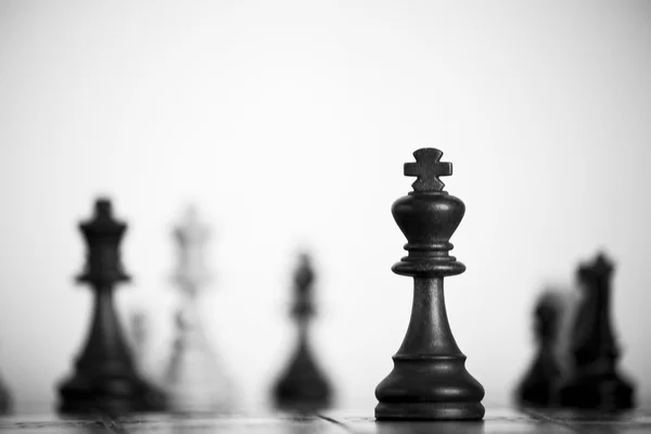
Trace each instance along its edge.
{"label": "bottom disc of the sharply focused black king's base", "polygon": [[380,403],[378,420],[482,420],[485,409],[481,403]]}

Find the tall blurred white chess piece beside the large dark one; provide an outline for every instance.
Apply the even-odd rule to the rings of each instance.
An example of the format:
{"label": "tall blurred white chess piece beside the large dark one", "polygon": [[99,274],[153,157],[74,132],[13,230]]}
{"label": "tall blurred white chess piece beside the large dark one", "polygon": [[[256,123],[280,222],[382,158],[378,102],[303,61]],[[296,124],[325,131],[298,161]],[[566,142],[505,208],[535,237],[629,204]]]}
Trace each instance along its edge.
{"label": "tall blurred white chess piece beside the large dark one", "polygon": [[175,282],[180,303],[175,315],[175,343],[167,367],[166,388],[171,411],[225,412],[232,410],[232,387],[201,322],[199,303],[202,289],[210,280],[205,266],[208,228],[190,207],[174,230],[178,245]]}

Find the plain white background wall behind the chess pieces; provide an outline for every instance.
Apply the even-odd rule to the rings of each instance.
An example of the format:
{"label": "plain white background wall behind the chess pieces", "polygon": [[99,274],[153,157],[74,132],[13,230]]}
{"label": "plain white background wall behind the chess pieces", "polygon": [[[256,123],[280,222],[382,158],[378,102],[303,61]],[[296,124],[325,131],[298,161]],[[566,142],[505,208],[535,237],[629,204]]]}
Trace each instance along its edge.
{"label": "plain white background wall behind the chess pieces", "polygon": [[[170,230],[213,228],[202,307],[243,408],[293,342],[296,254],[315,256],[315,347],[339,405],[369,414],[407,328],[391,216],[423,146],[467,204],[448,314],[486,404],[509,403],[546,285],[616,261],[622,369],[651,396],[651,7],[646,1],[2,1],[0,371],[54,403],[88,328],[76,224],[128,221],[123,316],[165,362]],[[152,369],[161,369],[152,368]]]}

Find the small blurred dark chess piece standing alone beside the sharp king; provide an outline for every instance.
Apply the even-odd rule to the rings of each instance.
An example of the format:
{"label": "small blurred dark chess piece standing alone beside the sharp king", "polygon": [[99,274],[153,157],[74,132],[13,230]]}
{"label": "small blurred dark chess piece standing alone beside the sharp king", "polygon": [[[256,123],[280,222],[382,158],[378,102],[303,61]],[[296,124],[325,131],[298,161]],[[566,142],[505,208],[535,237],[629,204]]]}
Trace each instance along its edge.
{"label": "small blurred dark chess piece standing alone beside the sharp king", "polygon": [[310,257],[299,256],[294,275],[294,306],[292,316],[298,328],[296,350],[273,388],[276,407],[293,412],[312,412],[330,407],[332,387],[317,366],[309,345],[309,322],[315,315]]}

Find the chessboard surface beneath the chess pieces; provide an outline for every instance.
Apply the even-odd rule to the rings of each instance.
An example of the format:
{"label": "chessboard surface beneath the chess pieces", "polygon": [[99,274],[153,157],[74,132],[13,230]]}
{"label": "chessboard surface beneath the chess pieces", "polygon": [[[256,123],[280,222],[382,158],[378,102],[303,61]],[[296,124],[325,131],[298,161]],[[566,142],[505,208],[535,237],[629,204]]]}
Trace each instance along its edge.
{"label": "chessboard surface beneath the chess pieces", "polygon": [[0,432],[18,433],[651,433],[651,410],[620,416],[570,411],[486,409],[481,422],[376,422],[369,412],[333,411],[314,416],[241,416],[206,413],[136,414],[88,419],[55,414],[14,414],[0,418]]}

